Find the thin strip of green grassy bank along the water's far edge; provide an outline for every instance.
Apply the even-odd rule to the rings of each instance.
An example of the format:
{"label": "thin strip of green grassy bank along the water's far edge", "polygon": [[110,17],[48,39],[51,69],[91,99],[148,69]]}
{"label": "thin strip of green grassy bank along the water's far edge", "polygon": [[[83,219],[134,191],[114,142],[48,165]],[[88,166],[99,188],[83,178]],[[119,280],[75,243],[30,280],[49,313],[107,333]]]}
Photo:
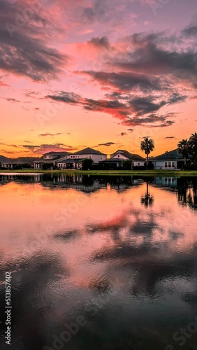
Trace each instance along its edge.
{"label": "thin strip of green grassy bank along the water's far edge", "polygon": [[197,170],[41,170],[41,169],[22,169],[22,170],[1,170],[3,174],[82,174],[82,175],[138,175],[138,176],[197,176]]}

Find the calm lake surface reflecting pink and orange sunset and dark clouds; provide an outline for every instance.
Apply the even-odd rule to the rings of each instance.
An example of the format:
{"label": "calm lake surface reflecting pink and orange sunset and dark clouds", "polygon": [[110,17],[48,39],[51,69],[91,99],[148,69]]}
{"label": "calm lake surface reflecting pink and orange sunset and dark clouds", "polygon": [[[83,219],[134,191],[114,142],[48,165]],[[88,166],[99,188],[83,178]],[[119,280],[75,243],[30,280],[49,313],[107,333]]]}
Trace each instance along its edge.
{"label": "calm lake surface reflecting pink and orange sunset and dark clouds", "polygon": [[196,350],[196,190],[196,178],[0,175],[0,349]]}

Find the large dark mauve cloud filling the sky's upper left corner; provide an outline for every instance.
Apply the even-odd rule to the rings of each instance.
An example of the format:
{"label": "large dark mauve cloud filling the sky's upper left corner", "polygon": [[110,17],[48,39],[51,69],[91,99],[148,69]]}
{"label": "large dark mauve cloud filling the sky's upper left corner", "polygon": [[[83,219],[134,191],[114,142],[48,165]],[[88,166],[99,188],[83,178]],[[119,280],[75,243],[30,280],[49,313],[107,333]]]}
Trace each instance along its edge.
{"label": "large dark mauve cloud filling the sky's upper left corner", "polygon": [[0,8],[0,69],[35,81],[57,78],[68,57],[48,46],[45,20],[33,15],[28,26],[19,1],[0,0]]}

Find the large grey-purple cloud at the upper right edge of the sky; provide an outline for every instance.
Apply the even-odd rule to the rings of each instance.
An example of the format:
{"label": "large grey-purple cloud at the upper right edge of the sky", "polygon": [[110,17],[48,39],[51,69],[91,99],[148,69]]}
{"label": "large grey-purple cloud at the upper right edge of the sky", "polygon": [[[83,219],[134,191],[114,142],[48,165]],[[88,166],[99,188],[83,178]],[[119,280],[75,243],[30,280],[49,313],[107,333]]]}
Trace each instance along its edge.
{"label": "large grey-purple cloud at the upper right edge of the sky", "polygon": [[[174,36],[168,36],[168,44],[175,41]],[[126,71],[140,71],[142,73],[170,75],[184,81],[197,76],[197,52],[195,47],[178,50],[166,48],[167,38],[159,34],[133,34],[127,38],[128,43],[134,46],[122,55],[112,59],[111,64]],[[180,38],[177,38],[177,43]],[[163,44],[163,46],[162,46]],[[168,78],[168,77],[166,77]],[[172,85],[173,81],[169,81]]]}

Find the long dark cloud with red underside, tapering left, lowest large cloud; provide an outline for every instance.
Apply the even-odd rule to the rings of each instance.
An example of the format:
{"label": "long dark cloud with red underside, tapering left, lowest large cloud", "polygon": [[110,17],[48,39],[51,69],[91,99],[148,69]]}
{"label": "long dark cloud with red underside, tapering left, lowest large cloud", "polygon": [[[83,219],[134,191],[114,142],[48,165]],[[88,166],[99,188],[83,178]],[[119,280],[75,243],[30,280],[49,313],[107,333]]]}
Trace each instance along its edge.
{"label": "long dark cloud with red underside, tapering left, lowest large cloud", "polygon": [[[127,101],[119,102],[118,99],[87,99],[70,92],[60,92],[59,94],[48,95],[46,98],[81,106],[82,109],[87,111],[108,113],[115,118],[119,118],[123,125],[135,126],[149,125],[153,123],[155,127],[166,127],[172,125],[174,121],[168,120],[168,118],[175,117],[175,113],[168,113],[166,116],[156,116],[151,112],[158,111],[162,106],[174,104],[175,100],[182,101],[183,99],[183,97],[180,97],[179,95],[172,95],[170,99],[167,99],[166,101],[161,100],[161,102],[154,102],[154,97],[148,96],[136,97],[133,99],[128,97]],[[147,115],[148,113],[151,114]]]}

